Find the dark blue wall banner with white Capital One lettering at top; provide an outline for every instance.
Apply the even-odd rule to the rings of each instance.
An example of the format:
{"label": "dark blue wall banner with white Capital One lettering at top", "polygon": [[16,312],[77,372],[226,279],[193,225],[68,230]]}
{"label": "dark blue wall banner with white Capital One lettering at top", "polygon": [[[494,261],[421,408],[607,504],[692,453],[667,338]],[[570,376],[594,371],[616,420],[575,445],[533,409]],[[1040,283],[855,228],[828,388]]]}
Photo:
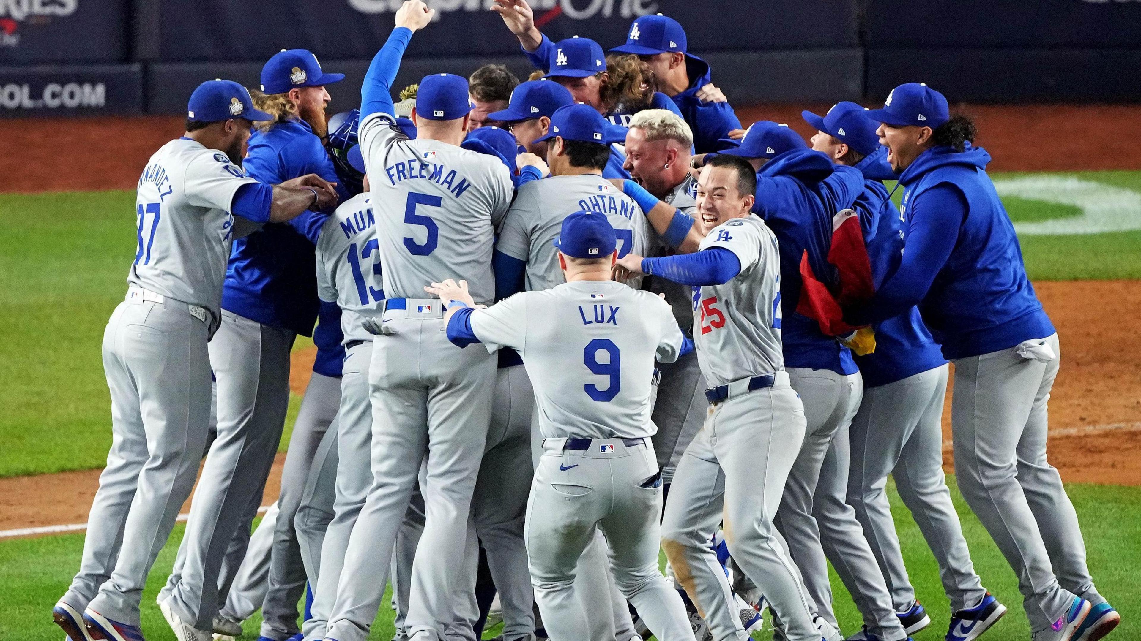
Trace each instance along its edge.
{"label": "dark blue wall banner with white Capital One lettering at top", "polygon": [[[3,2],[5,0],[0,0]],[[393,30],[399,0],[164,0],[160,58],[261,60],[306,48],[323,59],[370,58]],[[489,0],[428,0],[434,24],[410,57],[513,55],[519,43]],[[685,27],[694,51],[839,48],[858,44],[856,0],[534,0],[553,40],[581,35],[604,48],[625,41],[638,16],[662,13]]]}

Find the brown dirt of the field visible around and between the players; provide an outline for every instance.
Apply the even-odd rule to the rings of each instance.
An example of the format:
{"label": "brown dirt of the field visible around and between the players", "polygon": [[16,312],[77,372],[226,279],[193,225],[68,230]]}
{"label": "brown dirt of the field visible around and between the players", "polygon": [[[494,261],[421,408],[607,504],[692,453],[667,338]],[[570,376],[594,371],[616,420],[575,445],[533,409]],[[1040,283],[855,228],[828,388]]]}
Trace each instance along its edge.
{"label": "brown dirt of the field visible around and between the players", "polygon": [[[808,136],[803,108],[824,113],[828,105],[737,112],[746,124],[776,120]],[[1139,107],[960,105],[957,111],[977,119],[978,143],[994,156],[994,170],[1141,169],[1141,155],[1131,147],[1141,138]],[[171,116],[0,120],[0,140],[9,152],[0,154],[0,190],[131,189],[151,154],[180,133],[181,119]],[[1066,140],[1065,151],[1058,140]],[[1061,372],[1050,400],[1051,462],[1066,481],[1141,485],[1141,333],[1131,322],[1141,313],[1141,283],[1042,282],[1035,287],[1061,339]],[[293,355],[296,393],[305,390],[313,357],[313,349]],[[950,438],[949,417],[948,407],[945,439]],[[950,471],[947,447],[944,461]],[[277,496],[282,462],[278,455],[262,504]],[[98,474],[0,479],[0,530],[86,521]]]}

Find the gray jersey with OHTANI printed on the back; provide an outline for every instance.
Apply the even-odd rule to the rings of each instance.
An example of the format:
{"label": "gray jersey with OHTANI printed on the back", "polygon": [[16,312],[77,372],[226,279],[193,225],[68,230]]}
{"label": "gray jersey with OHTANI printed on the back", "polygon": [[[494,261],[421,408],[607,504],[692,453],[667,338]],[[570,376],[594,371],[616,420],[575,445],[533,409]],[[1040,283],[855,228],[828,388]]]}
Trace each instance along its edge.
{"label": "gray jersey with OHTANI printed on the back", "polygon": [[[563,219],[576,211],[605,213],[618,236],[618,257],[645,255],[649,225],[633,198],[600,175],[551,176],[519,188],[500,230],[496,249],[527,262],[527,291],[564,283],[558,250]],[[634,285],[637,286],[637,284]]]}

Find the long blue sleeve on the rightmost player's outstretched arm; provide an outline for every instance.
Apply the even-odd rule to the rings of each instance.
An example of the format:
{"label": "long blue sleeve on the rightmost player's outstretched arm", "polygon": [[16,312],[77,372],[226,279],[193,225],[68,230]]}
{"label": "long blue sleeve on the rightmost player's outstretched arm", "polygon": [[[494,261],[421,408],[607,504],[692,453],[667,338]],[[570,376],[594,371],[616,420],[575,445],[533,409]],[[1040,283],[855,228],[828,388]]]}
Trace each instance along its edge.
{"label": "long blue sleeve on the rightmost player's outstretched arm", "polygon": [[966,198],[949,184],[937,185],[916,198],[908,217],[899,269],[880,286],[872,300],[849,309],[844,320],[852,325],[877,323],[922,302],[955,249],[966,213]]}

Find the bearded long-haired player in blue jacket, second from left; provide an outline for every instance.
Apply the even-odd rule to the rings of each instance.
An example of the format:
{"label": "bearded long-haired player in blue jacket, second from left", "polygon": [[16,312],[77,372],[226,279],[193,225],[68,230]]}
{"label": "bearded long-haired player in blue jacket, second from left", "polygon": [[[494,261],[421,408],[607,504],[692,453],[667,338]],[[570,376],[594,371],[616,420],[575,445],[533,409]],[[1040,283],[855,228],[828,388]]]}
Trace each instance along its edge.
{"label": "bearded long-haired player in blue jacket, second from left", "polygon": [[[324,73],[304,49],[282,51],[261,70],[260,104],[275,119],[250,138],[245,167],[267,184],[306,173],[338,182],[321,141],[325,133],[325,84],[342,74]],[[341,197],[347,193],[340,192]],[[210,342],[218,388],[218,438],[211,444],[180,545],[180,560],[159,594],[163,615],[181,641],[209,635],[225,593],[219,569],[232,539],[249,539],[249,525],[277,453],[289,408],[290,349],[297,334],[311,335],[319,303],[313,275],[313,243],[324,214],[309,212],[290,225],[269,225],[235,241],[222,287],[222,323]],[[335,390],[335,381],[322,381]],[[314,390],[316,391],[316,389]],[[335,399],[324,401],[332,407]],[[292,533],[293,511],[308,460],[327,423],[302,423],[293,439],[296,464],[278,508],[285,512],[275,536],[281,550],[270,565],[270,610],[262,633],[283,641],[297,632],[296,603],[304,590]],[[305,447],[301,447],[302,443]],[[243,545],[244,546],[244,545]],[[274,569],[276,567],[276,570]],[[224,585],[226,582],[221,582]],[[197,631],[197,632],[194,632]]]}

